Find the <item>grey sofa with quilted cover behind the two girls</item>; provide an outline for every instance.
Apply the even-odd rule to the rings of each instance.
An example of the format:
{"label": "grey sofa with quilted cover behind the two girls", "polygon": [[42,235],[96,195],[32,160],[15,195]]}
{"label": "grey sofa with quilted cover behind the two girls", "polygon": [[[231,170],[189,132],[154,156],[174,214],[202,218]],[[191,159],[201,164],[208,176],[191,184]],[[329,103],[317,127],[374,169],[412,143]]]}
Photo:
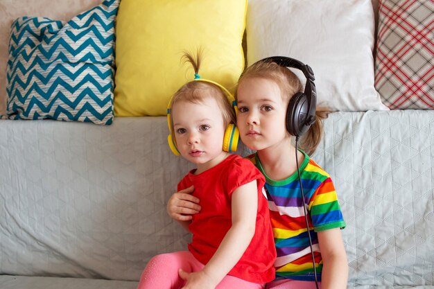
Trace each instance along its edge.
{"label": "grey sofa with quilted cover behind the two girls", "polygon": [[[0,288],[136,288],[151,256],[185,249],[166,201],[190,165],[167,134],[164,116],[0,121]],[[348,288],[434,288],[433,136],[434,111],[325,121],[313,158],[347,222]]]}

